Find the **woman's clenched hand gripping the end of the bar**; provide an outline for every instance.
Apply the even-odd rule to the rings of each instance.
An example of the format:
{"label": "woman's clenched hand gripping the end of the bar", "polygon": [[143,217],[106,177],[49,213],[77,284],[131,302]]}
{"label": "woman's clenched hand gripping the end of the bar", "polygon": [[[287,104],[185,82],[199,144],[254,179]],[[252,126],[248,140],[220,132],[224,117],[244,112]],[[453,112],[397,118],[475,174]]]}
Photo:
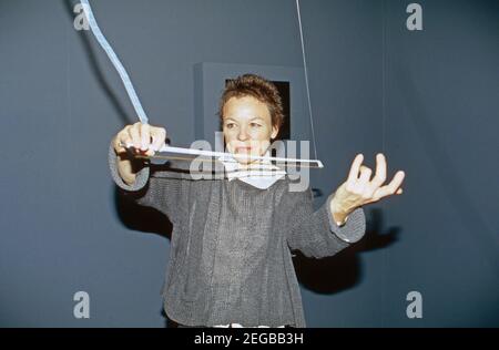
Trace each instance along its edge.
{"label": "woman's clenched hand gripping the end of the bar", "polygon": [[125,154],[126,146],[133,147],[136,154],[153,156],[156,151],[164,146],[166,130],[138,122],[123,127],[113,138],[114,152]]}

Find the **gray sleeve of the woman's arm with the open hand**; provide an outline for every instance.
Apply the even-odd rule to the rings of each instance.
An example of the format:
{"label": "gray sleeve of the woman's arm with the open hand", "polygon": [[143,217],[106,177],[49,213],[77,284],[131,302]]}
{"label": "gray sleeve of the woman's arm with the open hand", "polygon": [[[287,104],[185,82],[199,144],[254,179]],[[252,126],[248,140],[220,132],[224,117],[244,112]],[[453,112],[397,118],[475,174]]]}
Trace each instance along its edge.
{"label": "gray sleeve of the woman's arm with the open hand", "polygon": [[307,257],[323,258],[363,238],[366,231],[364,209],[356,208],[348,215],[346,224],[338,226],[330,213],[333,196],[314,212],[309,188],[294,194],[287,228],[287,244],[292,250],[301,250]]}

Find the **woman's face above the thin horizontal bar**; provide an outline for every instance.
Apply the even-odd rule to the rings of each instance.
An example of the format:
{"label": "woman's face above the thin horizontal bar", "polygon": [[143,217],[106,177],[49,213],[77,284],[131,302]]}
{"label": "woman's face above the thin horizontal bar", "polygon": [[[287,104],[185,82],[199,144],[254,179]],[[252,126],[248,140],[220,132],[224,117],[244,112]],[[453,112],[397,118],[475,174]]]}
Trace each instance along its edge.
{"label": "woman's face above the thin horizontal bar", "polygon": [[[278,128],[273,126],[265,103],[253,96],[231,97],[223,106],[223,133],[227,151],[238,155],[264,155]],[[236,157],[241,164],[257,162]]]}

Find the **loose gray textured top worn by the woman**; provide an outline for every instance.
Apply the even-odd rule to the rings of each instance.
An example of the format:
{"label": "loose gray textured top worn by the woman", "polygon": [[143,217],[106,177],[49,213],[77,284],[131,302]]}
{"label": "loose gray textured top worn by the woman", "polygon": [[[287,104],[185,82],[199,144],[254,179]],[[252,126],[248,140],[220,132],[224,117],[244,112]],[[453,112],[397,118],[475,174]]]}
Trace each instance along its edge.
{"label": "loose gray textured top worn by the woman", "polygon": [[287,176],[258,189],[147,165],[129,186],[112,145],[109,165],[124,196],[173,224],[162,296],[166,315],[179,323],[306,327],[291,250],[333,256],[365,234],[361,207],[338,227],[329,209],[333,195],[314,212],[312,191],[289,192]]}

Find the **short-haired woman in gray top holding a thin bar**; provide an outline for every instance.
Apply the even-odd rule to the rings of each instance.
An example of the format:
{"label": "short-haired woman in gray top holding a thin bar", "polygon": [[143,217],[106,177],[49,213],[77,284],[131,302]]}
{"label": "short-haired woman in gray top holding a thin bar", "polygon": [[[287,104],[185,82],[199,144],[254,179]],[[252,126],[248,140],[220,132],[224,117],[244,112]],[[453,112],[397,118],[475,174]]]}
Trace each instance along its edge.
{"label": "short-haired woman in gray top holding a thin bar", "polygon": [[[244,155],[267,152],[283,109],[271,82],[245,74],[227,84],[220,116],[228,152],[249,166],[258,161]],[[242,178],[194,181],[182,172],[153,172],[123,147],[133,144],[135,153],[153,155],[165,137],[162,127],[128,125],[113,138],[109,157],[123,193],[173,224],[162,295],[166,315],[180,325],[305,327],[291,250],[315,258],[335,255],[364,236],[363,205],[401,194],[403,172],[381,186],[381,154],[373,179],[357,155],[347,181],[314,212],[310,188],[289,191],[288,176],[264,189]]]}

